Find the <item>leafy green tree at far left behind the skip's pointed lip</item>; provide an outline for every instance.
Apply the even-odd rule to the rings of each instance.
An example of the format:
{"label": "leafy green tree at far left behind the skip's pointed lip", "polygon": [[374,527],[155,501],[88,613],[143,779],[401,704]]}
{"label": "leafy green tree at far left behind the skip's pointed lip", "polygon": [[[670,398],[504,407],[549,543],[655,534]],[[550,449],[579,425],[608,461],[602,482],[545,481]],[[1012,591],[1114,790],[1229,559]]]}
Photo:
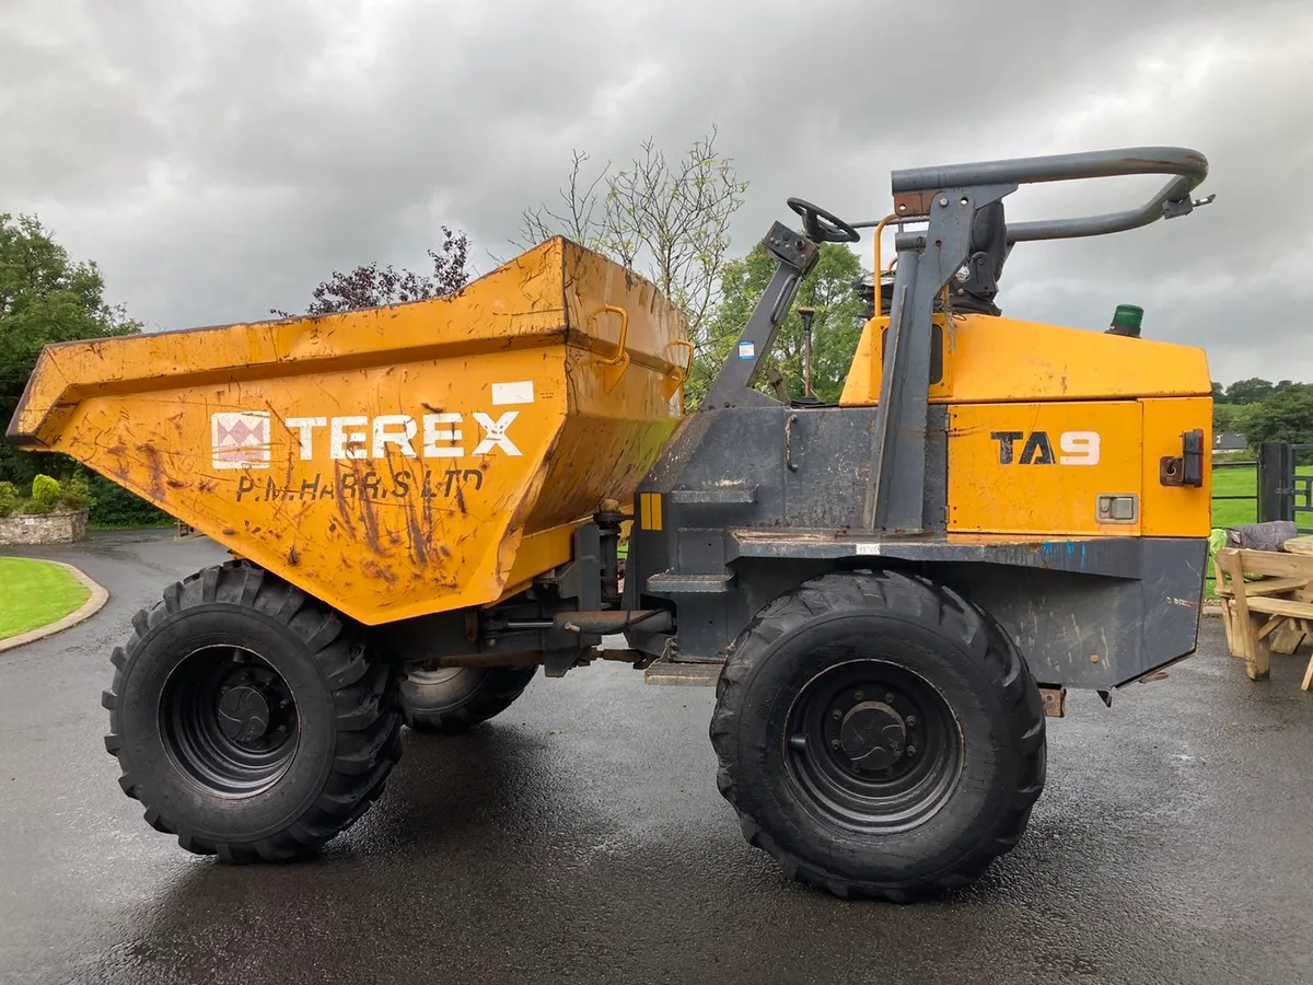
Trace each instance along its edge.
{"label": "leafy green tree at far left behind the skip's pointed lip", "polygon": [[[105,301],[105,281],[95,263],[72,260],[38,218],[0,213],[0,479],[26,487],[45,470],[64,477],[75,473],[64,456],[22,452],[3,437],[42,347],[133,335],[140,328],[121,306]],[[91,483],[97,500],[119,503],[123,519],[167,519],[98,475]]]}

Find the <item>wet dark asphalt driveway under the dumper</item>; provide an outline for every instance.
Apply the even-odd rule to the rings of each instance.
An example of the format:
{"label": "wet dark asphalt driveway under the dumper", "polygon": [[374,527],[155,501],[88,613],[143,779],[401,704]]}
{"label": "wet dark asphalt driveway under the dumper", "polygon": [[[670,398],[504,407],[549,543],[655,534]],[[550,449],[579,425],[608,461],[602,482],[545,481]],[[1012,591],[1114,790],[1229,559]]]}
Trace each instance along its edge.
{"label": "wet dark asphalt driveway under the dumper", "polygon": [[104,753],[131,613],[222,552],[93,535],[110,591],[0,654],[0,982],[1313,982],[1313,693],[1215,621],[1169,680],[1050,722],[1022,846],[956,898],[783,880],[716,792],[710,688],[537,679],[475,734],[406,734],[319,859],[230,868],[150,830]]}

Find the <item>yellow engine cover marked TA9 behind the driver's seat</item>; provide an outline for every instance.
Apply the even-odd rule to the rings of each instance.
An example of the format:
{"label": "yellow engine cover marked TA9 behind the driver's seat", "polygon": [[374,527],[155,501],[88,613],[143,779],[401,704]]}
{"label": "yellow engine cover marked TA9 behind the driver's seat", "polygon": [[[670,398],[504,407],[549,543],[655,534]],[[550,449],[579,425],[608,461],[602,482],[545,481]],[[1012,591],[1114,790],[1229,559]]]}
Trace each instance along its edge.
{"label": "yellow engine cover marked TA9 behind the driver's seat", "polygon": [[[878,402],[888,318],[863,332],[842,403]],[[936,317],[930,399],[948,405],[949,533],[1207,537],[1212,382],[1204,352],[987,315]],[[1204,483],[1163,458],[1204,432]]]}

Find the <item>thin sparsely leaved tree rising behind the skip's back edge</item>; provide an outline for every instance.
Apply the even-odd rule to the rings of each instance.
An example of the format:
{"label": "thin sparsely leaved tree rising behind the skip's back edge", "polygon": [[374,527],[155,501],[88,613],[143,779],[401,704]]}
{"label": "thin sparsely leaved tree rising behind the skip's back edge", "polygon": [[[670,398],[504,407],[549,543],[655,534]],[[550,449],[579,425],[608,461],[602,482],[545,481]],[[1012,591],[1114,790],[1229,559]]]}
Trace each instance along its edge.
{"label": "thin sparsely leaved tree rising behind the skip's back edge", "polygon": [[674,162],[647,139],[628,167],[613,171],[608,162],[591,180],[590,158],[576,151],[559,192],[563,206],[523,213],[520,246],[565,235],[645,274],[688,318],[697,356],[705,357],[730,218],[747,192],[716,137],[713,126]]}

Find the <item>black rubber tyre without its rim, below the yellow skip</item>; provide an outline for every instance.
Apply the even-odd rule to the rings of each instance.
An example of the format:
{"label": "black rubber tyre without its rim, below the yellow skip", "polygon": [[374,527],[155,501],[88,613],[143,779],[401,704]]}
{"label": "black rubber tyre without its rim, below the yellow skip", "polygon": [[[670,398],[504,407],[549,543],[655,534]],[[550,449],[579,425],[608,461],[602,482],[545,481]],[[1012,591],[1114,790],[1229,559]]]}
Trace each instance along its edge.
{"label": "black rubber tyre without its rim, below the yellow skip", "polygon": [[[179,844],[225,862],[280,862],[310,854],[353,825],[400,758],[397,671],[372,659],[358,625],[244,561],[207,567],[169,586],[133,617],[113,653],[105,749],[119,785],[146,821]],[[286,682],[297,745],[285,772],[260,792],[225,797],[179,766],[164,696],[175,668],[201,647],[240,646]]]}

